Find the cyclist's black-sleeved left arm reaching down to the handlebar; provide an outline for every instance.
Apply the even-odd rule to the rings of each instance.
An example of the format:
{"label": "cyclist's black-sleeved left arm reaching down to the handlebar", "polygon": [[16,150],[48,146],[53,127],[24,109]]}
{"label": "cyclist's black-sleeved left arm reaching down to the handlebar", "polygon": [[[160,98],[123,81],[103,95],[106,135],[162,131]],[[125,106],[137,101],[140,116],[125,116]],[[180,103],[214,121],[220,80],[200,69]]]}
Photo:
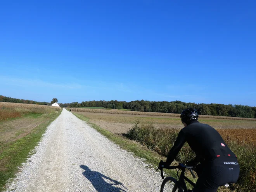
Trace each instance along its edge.
{"label": "cyclist's black-sleeved left arm reaching down to the handlebar", "polygon": [[178,137],[177,137],[173,147],[171,148],[171,150],[168,154],[168,157],[166,159],[166,166],[170,166],[170,164],[173,162],[175,157],[178,155],[180,149],[185,144],[185,142],[186,142],[185,133],[181,130],[180,133],[178,134]]}

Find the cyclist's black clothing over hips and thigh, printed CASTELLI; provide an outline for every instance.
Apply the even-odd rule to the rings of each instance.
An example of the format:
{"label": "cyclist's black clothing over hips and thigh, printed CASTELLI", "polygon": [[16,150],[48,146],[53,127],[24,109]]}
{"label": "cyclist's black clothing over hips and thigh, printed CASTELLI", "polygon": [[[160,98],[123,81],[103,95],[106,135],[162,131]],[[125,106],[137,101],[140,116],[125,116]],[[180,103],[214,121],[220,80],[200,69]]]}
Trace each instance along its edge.
{"label": "cyclist's black clothing over hips and thigh, printed CASTELLI", "polygon": [[218,187],[238,180],[240,167],[237,158],[217,158],[211,162],[199,164],[195,171],[198,180],[193,192],[216,192]]}

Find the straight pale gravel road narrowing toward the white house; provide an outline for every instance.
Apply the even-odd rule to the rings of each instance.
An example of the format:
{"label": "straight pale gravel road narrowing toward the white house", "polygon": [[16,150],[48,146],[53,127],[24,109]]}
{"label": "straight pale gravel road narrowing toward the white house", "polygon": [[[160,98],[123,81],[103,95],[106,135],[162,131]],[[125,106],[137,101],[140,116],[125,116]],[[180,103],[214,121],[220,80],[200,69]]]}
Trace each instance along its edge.
{"label": "straight pale gravel road narrowing toward the white house", "polygon": [[161,176],[63,109],[7,191],[159,191]]}

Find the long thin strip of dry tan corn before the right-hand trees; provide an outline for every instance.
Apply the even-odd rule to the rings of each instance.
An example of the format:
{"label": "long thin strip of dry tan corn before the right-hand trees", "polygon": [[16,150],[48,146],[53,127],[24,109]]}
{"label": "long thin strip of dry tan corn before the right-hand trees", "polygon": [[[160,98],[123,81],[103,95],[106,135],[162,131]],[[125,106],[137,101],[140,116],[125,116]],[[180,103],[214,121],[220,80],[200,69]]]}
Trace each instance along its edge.
{"label": "long thin strip of dry tan corn before the right-hand trees", "polygon": [[[95,113],[109,113],[109,114],[130,114],[130,115],[180,117],[180,114],[161,113],[161,112],[139,112],[139,111],[120,111],[120,110],[84,109],[84,108],[67,108],[67,109],[74,111],[74,112],[95,112]],[[252,119],[252,118],[236,118],[236,117],[224,117],[224,116],[212,116],[212,115],[200,115],[199,118],[256,121],[256,119]]]}

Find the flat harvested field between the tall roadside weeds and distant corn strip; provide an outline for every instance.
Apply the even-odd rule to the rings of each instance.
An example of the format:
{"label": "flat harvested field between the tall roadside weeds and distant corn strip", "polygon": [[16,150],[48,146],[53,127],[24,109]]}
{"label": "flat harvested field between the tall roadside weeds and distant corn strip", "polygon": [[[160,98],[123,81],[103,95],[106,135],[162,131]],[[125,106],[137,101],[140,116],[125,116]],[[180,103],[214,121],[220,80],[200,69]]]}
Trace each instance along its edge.
{"label": "flat harvested field between the tall roadside weeds and distant corn strip", "polygon": [[[130,115],[130,114],[108,114],[94,112],[75,112],[82,114],[90,119],[101,128],[111,131],[112,133],[126,133],[132,128],[135,121],[140,120],[141,123],[152,123],[160,128],[183,128],[180,118],[167,116],[146,116],[146,115]],[[256,121],[242,121],[231,119],[210,119],[199,118],[201,123],[206,123],[217,129],[251,129],[256,128]],[[256,129],[255,129],[256,130]]]}

